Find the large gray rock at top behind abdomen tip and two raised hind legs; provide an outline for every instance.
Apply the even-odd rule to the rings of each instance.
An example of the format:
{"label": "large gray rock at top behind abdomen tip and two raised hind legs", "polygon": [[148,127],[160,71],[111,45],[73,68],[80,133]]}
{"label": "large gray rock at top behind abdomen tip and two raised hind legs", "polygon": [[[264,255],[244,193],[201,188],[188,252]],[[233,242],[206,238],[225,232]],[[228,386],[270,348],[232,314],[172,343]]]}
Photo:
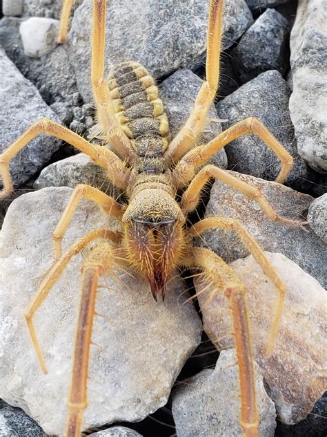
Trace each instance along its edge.
{"label": "large gray rock at top behind abdomen tip and two raised hind legs", "polygon": [[[203,64],[206,56],[207,1],[192,0],[186,8],[181,1],[161,3],[140,0],[137,6],[126,13],[126,3],[119,0],[108,3],[108,71],[119,62],[134,60],[148,68],[157,79],[181,67],[195,69]],[[70,59],[85,102],[93,100],[90,81],[91,20],[91,2],[84,1],[75,11],[68,37]],[[252,22],[244,0],[226,1],[224,48],[232,46]]]}

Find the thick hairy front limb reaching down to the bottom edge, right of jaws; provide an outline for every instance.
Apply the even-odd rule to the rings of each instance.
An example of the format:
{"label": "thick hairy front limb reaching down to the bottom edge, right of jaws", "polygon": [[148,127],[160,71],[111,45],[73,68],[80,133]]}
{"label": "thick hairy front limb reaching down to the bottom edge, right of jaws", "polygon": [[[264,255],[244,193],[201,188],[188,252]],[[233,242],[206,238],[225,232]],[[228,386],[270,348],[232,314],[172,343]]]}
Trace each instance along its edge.
{"label": "thick hairy front limb reaching down to the bottom edge, right of jaws", "polygon": [[230,301],[239,365],[240,425],[244,431],[244,436],[258,437],[259,415],[255,396],[254,359],[245,286],[235,272],[211,250],[193,247],[192,253],[186,255],[183,263],[188,267],[201,268],[204,272],[204,282],[214,286],[214,291],[208,298],[208,304],[218,292],[224,292]]}

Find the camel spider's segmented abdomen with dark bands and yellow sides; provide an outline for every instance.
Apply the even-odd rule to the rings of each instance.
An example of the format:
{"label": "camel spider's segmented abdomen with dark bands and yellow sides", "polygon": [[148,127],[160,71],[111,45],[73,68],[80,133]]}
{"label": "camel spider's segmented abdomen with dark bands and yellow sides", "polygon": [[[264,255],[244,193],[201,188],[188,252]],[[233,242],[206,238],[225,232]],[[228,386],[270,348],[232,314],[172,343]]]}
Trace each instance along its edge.
{"label": "camel spider's segmented abdomen with dark bands and yellow sides", "polygon": [[155,81],[137,62],[123,62],[110,71],[108,83],[121,129],[139,156],[139,171],[163,172],[169,126]]}

